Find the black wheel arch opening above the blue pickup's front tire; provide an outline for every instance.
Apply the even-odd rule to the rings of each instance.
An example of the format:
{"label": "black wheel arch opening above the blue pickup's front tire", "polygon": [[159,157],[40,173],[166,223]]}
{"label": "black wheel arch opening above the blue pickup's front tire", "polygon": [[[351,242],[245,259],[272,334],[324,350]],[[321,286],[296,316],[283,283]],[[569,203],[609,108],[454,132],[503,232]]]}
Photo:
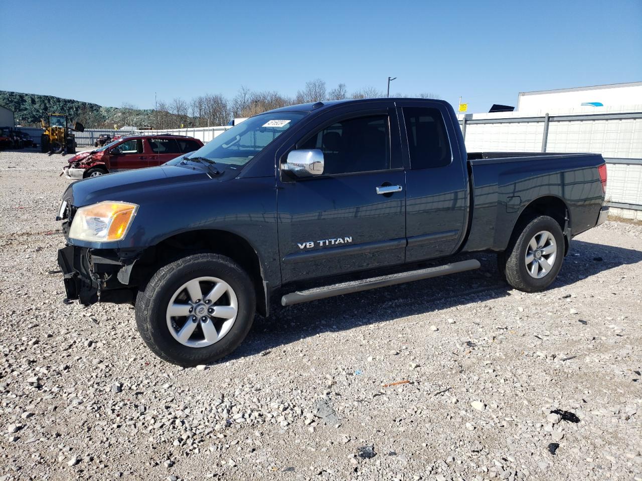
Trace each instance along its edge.
{"label": "black wheel arch opening above the blue pickup's front tire", "polygon": [[252,278],[256,291],[257,312],[262,316],[268,316],[270,299],[264,263],[257,249],[245,237],[227,230],[188,230],[168,235],[154,246],[144,249],[139,255],[139,260],[132,268],[132,283],[144,289],[159,267],[195,252],[225,255],[239,264]]}

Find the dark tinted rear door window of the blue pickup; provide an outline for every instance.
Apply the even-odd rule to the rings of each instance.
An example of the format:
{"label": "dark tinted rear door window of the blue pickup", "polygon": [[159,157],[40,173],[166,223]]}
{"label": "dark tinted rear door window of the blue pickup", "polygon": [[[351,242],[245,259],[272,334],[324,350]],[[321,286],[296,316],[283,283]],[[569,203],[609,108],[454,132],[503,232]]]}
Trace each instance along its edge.
{"label": "dark tinted rear door window of the blue pickup", "polygon": [[437,108],[404,107],[403,117],[408,135],[410,167],[431,169],[449,165],[453,156],[441,112]]}

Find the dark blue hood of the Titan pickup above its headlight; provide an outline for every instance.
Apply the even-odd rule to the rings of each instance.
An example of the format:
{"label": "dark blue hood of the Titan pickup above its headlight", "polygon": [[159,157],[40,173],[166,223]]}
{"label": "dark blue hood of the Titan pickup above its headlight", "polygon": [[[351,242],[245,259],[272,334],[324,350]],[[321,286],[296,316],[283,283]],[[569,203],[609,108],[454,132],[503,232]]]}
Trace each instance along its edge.
{"label": "dark blue hood of the Titan pickup above its headlight", "polygon": [[212,185],[218,183],[216,180],[203,169],[161,165],[78,180],[67,187],[63,199],[75,207],[101,201],[153,202],[155,198],[174,195],[180,201],[180,193],[186,189],[200,190],[197,184]]}

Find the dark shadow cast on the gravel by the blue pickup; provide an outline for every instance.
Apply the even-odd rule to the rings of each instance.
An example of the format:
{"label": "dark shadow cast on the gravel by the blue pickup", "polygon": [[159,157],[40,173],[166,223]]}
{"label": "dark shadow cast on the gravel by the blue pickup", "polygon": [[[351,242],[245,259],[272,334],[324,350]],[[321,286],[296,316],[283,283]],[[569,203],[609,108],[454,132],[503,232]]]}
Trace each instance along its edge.
{"label": "dark shadow cast on the gravel by the blue pickup", "polygon": [[[510,292],[516,292],[499,278],[495,255],[480,253],[472,257],[480,261],[481,269],[291,307],[274,306],[272,316],[268,319],[257,317],[247,339],[222,362],[259,353],[269,355],[272,350],[319,333],[436,312],[507,297]],[[450,260],[465,258],[471,256]],[[550,289],[564,288],[614,267],[637,262],[642,262],[642,251],[573,241]],[[557,293],[554,295],[558,296]]]}

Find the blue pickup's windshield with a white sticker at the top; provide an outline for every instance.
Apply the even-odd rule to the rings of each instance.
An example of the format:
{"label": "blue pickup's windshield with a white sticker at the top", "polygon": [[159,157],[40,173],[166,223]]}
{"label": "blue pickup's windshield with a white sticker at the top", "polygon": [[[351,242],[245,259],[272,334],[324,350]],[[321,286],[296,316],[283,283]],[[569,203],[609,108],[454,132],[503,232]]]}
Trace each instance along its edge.
{"label": "blue pickup's windshield with a white sticker at the top", "polygon": [[216,164],[245,165],[305,115],[304,112],[268,112],[250,117],[186,157],[205,158]]}

